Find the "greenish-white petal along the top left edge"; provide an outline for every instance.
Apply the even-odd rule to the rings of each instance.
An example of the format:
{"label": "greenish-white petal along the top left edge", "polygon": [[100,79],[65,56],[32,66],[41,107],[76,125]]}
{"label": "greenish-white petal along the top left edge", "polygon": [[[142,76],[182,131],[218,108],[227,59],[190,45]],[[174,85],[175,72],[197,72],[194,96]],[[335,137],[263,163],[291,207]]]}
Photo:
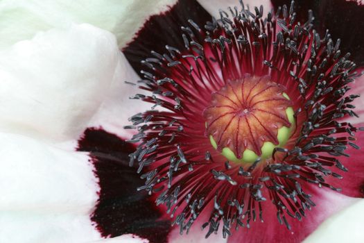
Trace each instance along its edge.
{"label": "greenish-white petal along the top left edge", "polygon": [[[37,31],[89,23],[118,37],[119,47],[132,40],[150,15],[176,0],[4,0],[0,2],[0,49],[33,37]],[[168,5],[168,6],[167,6]]]}

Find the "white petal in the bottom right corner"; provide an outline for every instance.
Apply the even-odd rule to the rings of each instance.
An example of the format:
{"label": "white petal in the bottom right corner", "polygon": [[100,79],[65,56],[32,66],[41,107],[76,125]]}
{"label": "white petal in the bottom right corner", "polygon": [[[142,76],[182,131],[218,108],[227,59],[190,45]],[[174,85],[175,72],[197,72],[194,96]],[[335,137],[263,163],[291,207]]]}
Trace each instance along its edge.
{"label": "white petal in the bottom right corner", "polygon": [[304,242],[364,242],[364,199],[329,217]]}

